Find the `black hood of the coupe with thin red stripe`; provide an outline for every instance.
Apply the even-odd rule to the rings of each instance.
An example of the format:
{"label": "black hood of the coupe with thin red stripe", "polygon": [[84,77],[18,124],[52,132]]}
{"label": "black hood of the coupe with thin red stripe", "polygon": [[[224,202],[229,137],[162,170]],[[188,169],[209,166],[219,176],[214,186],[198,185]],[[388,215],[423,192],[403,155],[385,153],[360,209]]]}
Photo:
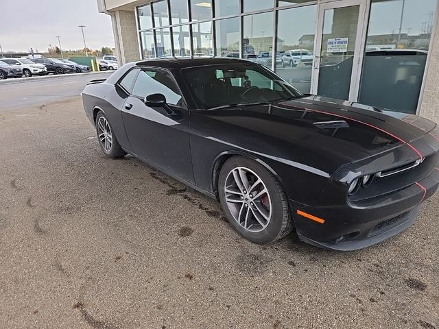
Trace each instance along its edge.
{"label": "black hood of the coupe with thin red stripe", "polygon": [[[224,136],[231,145],[244,145],[259,153],[268,150],[279,158],[324,168],[328,173],[415,141],[436,127],[436,123],[412,114],[378,112],[369,106],[318,96],[205,112],[209,121],[222,121],[226,130],[237,132],[235,139]],[[410,157],[422,157],[409,146]]]}

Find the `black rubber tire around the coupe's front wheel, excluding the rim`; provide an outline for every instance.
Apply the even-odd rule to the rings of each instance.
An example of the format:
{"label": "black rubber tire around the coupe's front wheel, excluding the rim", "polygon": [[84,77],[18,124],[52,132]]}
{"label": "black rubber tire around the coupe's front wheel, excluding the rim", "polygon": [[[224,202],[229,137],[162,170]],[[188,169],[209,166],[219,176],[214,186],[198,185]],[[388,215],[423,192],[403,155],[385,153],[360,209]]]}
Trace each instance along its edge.
{"label": "black rubber tire around the coupe's front wheel, excluding the rim", "polygon": [[[226,202],[225,184],[228,173],[237,167],[245,167],[256,173],[265,184],[272,202],[272,216],[265,229],[259,232],[246,230],[235,220]],[[292,217],[289,211],[288,197],[277,178],[263,165],[245,158],[243,156],[233,156],[228,158],[219,173],[218,180],[219,201],[226,214],[230,225],[244,236],[244,238],[259,244],[272,243],[282,239],[294,228]]]}

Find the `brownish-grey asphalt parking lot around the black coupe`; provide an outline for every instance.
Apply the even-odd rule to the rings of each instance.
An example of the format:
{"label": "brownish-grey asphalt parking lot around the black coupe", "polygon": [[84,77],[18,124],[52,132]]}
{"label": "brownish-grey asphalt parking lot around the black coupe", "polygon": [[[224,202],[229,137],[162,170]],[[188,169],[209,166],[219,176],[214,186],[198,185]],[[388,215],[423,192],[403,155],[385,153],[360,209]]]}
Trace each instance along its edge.
{"label": "brownish-grey asphalt parking lot around the black coupe", "polygon": [[439,328],[438,195],[358,252],[255,245],[215,200],[106,158],[64,86],[0,109],[0,328]]}

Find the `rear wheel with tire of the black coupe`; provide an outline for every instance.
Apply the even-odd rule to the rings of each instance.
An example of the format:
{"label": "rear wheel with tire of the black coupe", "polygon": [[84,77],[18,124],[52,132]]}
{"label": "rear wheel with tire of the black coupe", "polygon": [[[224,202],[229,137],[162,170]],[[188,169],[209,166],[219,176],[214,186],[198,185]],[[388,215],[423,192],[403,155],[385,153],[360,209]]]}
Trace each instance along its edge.
{"label": "rear wheel with tire of the black coupe", "polygon": [[110,158],[119,158],[126,154],[120,147],[114,136],[110,123],[104,112],[100,111],[96,116],[96,133],[104,154]]}

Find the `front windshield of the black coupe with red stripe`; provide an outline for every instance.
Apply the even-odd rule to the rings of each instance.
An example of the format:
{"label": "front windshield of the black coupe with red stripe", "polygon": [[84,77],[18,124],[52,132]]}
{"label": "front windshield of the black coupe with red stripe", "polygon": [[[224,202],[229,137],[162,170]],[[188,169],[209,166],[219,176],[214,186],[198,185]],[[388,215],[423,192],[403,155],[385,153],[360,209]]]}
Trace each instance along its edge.
{"label": "front windshield of the black coupe with red stripe", "polygon": [[281,77],[250,62],[191,67],[182,73],[198,108],[204,110],[303,96]]}

